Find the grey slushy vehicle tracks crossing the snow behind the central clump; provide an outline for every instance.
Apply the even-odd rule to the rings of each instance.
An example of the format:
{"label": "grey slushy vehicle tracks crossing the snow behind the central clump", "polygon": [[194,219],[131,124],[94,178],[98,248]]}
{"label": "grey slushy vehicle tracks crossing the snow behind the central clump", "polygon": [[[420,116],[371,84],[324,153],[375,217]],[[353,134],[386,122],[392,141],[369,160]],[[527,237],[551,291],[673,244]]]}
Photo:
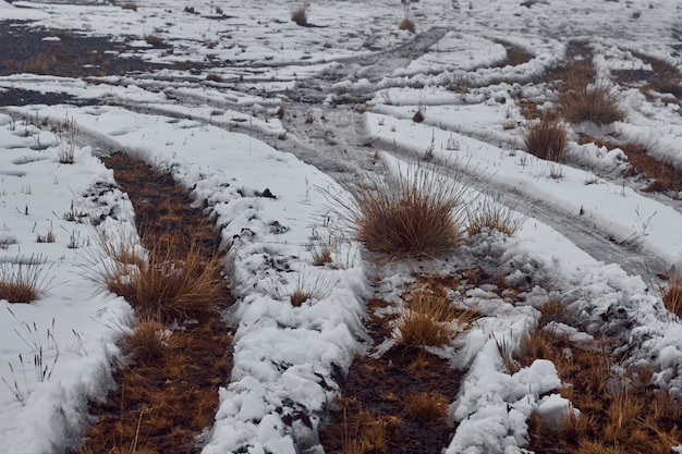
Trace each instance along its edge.
{"label": "grey slushy vehicle tracks crossing the snow behind the central clump", "polygon": [[[418,34],[394,49],[377,52],[360,60],[349,59],[337,70],[334,81],[324,77],[306,81],[303,86],[291,90],[284,101],[284,113],[281,118],[282,127],[287,131],[285,137],[278,137],[249,122],[220,123],[215,119],[210,123],[215,126],[231,128],[263,140],[276,149],[289,151],[308,164],[315,165],[340,184],[348,187],[357,175],[366,171],[382,171],[380,152],[392,155],[401,159],[416,160],[418,156],[406,147],[393,143],[381,142],[368,135],[365,119],[362,114],[365,109],[364,100],[369,90],[355,94],[357,103],[328,105],[322,102],[322,96],[331,91],[332,83],[341,81],[356,81],[364,77],[373,85],[385,75],[390,75],[397,68],[409,64],[419,57],[430,46],[442,38],[449,28],[435,27]],[[156,87],[155,89],[158,89]],[[204,97],[193,97],[186,91],[175,94],[173,100],[190,106],[209,106],[211,108],[231,109],[243,113],[252,113],[243,105],[229,100],[211,100]],[[276,96],[273,94],[272,96]],[[182,118],[176,111],[163,109],[159,106],[122,102],[122,107],[147,114],[162,114]],[[200,120],[193,116],[194,120]],[[204,120],[208,122],[208,120]],[[85,142],[95,149],[111,149],[115,140],[103,135],[83,131]],[[433,162],[443,173],[451,172],[451,164]],[[520,211],[524,216],[536,219],[560,232],[577,247],[605,263],[618,263],[630,274],[642,275],[645,279],[655,279],[657,274],[668,274],[667,263],[645,248],[641,247],[642,235],[619,237],[619,234],[590,221],[588,216],[569,212],[567,209],[537,197],[527,191],[522,191],[511,184],[496,181],[494,177],[480,177],[475,172],[460,168],[467,184],[473,188],[494,193],[500,203]]]}

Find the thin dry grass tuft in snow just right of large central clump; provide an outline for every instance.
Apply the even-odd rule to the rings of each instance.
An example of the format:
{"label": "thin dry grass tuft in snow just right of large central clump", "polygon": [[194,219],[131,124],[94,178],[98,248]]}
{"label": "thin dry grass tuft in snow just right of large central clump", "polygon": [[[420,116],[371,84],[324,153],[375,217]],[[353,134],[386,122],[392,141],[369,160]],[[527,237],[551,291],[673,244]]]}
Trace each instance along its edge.
{"label": "thin dry grass tuft in snow just right of large central clump", "polygon": [[514,236],[523,226],[526,218],[490,196],[478,199],[466,209],[466,233],[468,236],[479,234],[484,229],[495,229],[507,236]]}

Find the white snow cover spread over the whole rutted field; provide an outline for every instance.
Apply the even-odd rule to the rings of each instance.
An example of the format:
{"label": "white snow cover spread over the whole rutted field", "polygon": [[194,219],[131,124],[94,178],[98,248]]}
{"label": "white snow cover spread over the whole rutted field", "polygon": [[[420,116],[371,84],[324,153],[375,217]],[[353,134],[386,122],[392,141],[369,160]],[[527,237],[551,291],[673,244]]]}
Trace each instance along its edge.
{"label": "white snow cover spread over the whole rutted field", "polygon": [[[679,103],[617,87],[625,120],[569,126],[569,155],[583,165],[562,165],[560,179],[550,176],[559,164],[527,155],[519,128],[503,127],[522,121],[512,95],[551,102],[547,87],[533,81],[564,62],[569,40],[587,41],[600,77],[618,69],[653,71],[633,52],[682,69],[679,1],[423,0],[411,15],[424,38],[392,53],[414,38],[398,29],[397,0],[313,1],[310,27],[290,21],[294,4],[145,0],[133,11],[0,0],[0,20],[31,21],[20,27],[113,36],[145,60],[199,68],[88,81],[0,77],[0,90],[92,101],[0,110],[0,278],[39,269],[42,289],[31,304],[0,300],[0,452],[72,446],[92,422],[88,402],[113,385],[117,340],[133,312],[98,289],[92,273],[97,235],[134,225],[130,200],[98,159],[120,150],[172,172],[197,206],[208,207],[230,246],[234,367],[205,452],[321,451],[316,431],[336,394],[332,373],[367,348],[364,305],[380,268],[348,232],[339,237],[326,193],[343,197],[344,183],[361,172],[406,169],[431,145],[435,162],[475,176],[463,180],[472,181],[471,197],[506,193],[529,216],[514,237],[471,238],[431,270],[492,257],[510,282],[535,284],[523,306],[485,289],[461,302],[485,317],[448,349],[466,376],[450,396],[459,426],[442,449],[521,452],[531,412],[552,418],[570,408],[558,394],[546,395],[561,385],[551,363],[509,375],[496,344],[517,345],[536,323],[534,305],[548,296],[588,320],[589,332],[574,336],[613,336],[628,364],[649,364],[653,382],[682,397],[682,323],[654,284],[656,272],[682,266],[682,204],[617,177],[622,152],[576,143],[581,131],[637,142],[681,169]],[[150,34],[172,52],[147,45],[143,37]],[[532,59],[497,66],[507,56],[500,41]],[[476,88],[448,89],[463,79]],[[276,114],[280,105],[283,119]],[[417,109],[425,116],[418,124],[411,120]],[[64,122],[77,125],[76,137],[60,134]],[[69,150],[74,163],[61,164]],[[260,197],[266,188],[276,197]],[[103,222],[94,226],[93,219]],[[50,232],[53,243],[36,241]],[[310,245],[329,238],[334,262],[343,263],[338,269],[313,265]],[[398,294],[412,265],[381,268],[382,285]],[[313,300],[285,304],[300,286],[313,291]],[[619,318],[600,317],[616,309]],[[307,414],[313,428],[295,418],[285,424],[282,407]]]}

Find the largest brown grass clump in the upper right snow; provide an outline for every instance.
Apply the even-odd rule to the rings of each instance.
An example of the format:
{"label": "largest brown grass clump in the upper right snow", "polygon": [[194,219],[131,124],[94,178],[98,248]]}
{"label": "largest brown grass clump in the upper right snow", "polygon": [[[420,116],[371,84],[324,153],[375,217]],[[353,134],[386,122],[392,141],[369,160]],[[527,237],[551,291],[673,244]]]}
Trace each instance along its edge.
{"label": "largest brown grass clump in the upper right snow", "polygon": [[597,83],[590,68],[571,64],[567,68],[564,87],[559,91],[559,105],[567,121],[590,121],[599,126],[625,118],[618,99],[608,86]]}

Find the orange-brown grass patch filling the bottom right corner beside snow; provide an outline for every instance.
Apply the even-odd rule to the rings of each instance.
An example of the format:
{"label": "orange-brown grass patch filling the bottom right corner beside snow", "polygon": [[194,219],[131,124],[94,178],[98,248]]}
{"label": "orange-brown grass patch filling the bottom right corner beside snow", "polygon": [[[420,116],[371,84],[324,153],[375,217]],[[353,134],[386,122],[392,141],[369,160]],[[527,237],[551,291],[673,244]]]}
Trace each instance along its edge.
{"label": "orange-brown grass patch filling the bottom right corner beside snow", "polygon": [[[544,310],[550,322],[556,304]],[[533,415],[529,420],[533,451],[559,449],[576,453],[669,453],[680,443],[680,403],[651,386],[648,367],[614,367],[608,341],[575,344],[540,323],[514,355],[520,367],[537,358],[551,360],[570,386],[560,391],[580,414],[569,413],[559,431]],[[513,371],[513,370],[510,370]]]}

